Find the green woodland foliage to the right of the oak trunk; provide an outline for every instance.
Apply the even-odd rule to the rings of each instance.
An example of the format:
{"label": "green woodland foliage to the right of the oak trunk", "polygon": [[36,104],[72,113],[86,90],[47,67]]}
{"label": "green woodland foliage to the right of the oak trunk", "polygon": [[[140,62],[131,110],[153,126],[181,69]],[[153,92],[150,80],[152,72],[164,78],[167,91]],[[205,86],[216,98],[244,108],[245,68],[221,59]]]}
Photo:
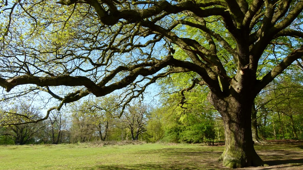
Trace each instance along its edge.
{"label": "green woodland foliage to the right of the oak trunk", "polygon": [[283,74],[256,98],[258,131],[263,139],[303,139],[303,107],[299,104],[303,86],[294,79]]}

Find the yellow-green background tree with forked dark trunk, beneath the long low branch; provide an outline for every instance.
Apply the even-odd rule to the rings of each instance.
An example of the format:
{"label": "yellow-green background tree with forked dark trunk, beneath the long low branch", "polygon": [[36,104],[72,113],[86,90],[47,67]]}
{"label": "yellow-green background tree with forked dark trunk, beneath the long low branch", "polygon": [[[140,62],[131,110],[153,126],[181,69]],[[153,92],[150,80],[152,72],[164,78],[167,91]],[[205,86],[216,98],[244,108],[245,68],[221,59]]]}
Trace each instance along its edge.
{"label": "yellow-green background tree with forked dark trunk, beneath the long low branch", "polygon": [[119,114],[116,99],[117,96],[112,95],[74,103],[69,112],[74,117],[73,125],[78,126],[77,131],[89,133],[89,139],[98,136],[99,140],[105,141]]}

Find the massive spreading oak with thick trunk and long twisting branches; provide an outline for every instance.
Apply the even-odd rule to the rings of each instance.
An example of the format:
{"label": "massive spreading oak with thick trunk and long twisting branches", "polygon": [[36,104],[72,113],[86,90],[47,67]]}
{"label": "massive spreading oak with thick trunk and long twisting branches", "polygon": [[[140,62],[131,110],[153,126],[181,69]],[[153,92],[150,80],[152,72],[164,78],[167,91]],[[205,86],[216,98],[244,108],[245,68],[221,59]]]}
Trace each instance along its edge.
{"label": "massive spreading oak with thick trunk and long twisting branches", "polygon": [[[5,99],[47,92],[61,101],[49,113],[89,94],[123,89],[124,109],[156,80],[195,72],[185,90],[209,87],[208,100],[225,126],[223,165],[263,164],[253,146],[251,108],[260,90],[303,55],[303,2],[2,2],[0,86],[13,93],[4,94]],[[184,56],[175,56],[175,49]],[[267,74],[259,76],[268,58],[278,64],[262,68]]]}

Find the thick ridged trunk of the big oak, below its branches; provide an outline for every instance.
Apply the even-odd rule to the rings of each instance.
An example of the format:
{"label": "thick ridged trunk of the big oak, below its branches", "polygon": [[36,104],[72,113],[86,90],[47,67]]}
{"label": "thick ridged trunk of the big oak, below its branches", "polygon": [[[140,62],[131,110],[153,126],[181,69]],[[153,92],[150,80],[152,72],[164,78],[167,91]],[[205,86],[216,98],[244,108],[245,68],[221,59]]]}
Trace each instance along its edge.
{"label": "thick ridged trunk of the big oak, below its branches", "polygon": [[208,100],[221,114],[225,128],[225,149],[219,161],[229,168],[261,166],[263,161],[255,152],[251,133],[253,97],[219,98],[208,94]]}

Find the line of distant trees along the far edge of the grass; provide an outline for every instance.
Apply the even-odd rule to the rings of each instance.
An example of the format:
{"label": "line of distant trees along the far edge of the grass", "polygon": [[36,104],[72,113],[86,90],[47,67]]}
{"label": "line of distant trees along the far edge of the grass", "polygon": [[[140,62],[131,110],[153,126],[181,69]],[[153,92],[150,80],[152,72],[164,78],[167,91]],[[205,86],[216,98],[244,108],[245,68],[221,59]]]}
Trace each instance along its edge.
{"label": "line of distant trees along the far edge of the grass", "polygon": [[[120,118],[121,107],[116,104],[117,96],[78,101],[65,112],[53,110],[47,120],[29,124],[22,122],[40,119],[44,115],[32,105],[13,104],[0,110],[1,124],[16,123],[0,126],[0,144],[122,140],[208,145],[224,142],[222,118],[207,102],[206,88],[198,88],[182,95],[166,89],[160,97],[162,104],[157,106],[132,102],[125,107]],[[303,139],[302,94],[302,84],[287,77],[273,81],[262,90],[252,108],[254,141]]]}

